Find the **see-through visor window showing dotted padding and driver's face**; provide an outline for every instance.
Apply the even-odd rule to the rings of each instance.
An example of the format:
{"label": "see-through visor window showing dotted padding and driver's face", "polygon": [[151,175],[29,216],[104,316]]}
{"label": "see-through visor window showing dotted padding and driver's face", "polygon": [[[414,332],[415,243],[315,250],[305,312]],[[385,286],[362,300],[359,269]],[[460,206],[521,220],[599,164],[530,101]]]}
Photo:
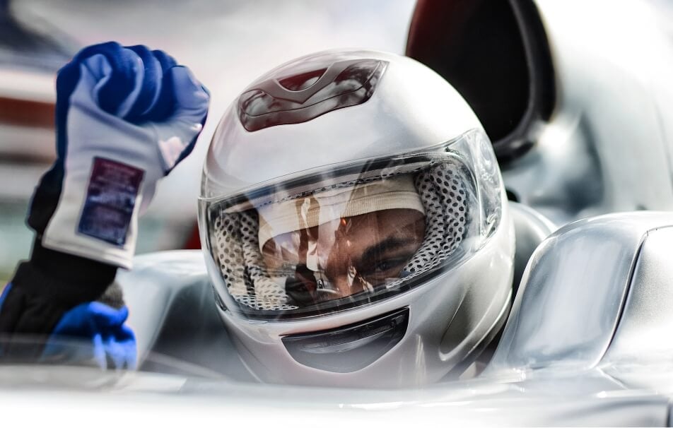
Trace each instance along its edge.
{"label": "see-through visor window showing dotted padding and driver's face", "polygon": [[326,311],[440,266],[467,234],[474,184],[455,157],[414,165],[237,202],[242,211],[213,207],[211,249],[228,294],[244,311]]}

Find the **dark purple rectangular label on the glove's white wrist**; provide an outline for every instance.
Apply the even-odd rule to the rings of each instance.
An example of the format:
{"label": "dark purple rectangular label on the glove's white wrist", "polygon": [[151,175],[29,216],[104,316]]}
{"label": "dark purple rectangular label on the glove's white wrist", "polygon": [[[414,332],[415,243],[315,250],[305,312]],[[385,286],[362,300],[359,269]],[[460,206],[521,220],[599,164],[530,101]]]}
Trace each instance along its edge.
{"label": "dark purple rectangular label on the glove's white wrist", "polygon": [[136,167],[94,157],[78,232],[124,246],[143,176]]}

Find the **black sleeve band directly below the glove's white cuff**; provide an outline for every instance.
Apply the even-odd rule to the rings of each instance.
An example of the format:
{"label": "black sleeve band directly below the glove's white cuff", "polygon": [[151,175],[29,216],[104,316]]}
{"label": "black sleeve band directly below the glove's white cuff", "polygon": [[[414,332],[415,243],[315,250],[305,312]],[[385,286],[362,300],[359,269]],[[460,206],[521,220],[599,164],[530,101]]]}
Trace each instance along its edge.
{"label": "black sleeve band directly below the glove's white cuff", "polygon": [[71,308],[101,297],[116,274],[116,266],[47,249],[35,239],[30,261],[18,266],[12,285]]}

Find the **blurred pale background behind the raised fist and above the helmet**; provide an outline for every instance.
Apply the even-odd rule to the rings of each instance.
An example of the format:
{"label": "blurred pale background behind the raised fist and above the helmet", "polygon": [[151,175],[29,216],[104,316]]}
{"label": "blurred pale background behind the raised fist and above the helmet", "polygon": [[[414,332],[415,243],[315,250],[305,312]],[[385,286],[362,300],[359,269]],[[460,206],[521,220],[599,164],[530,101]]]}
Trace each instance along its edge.
{"label": "blurred pale background behind the raised fist and above the helmet", "polygon": [[[201,141],[160,184],[138,252],[182,248],[192,234],[209,136],[254,78],[335,47],[404,53],[414,0],[0,0],[0,283],[30,253],[25,213],[54,160],[54,80],[81,47],[117,40],[164,49],[211,90]],[[1,284],[0,284],[1,286]]]}

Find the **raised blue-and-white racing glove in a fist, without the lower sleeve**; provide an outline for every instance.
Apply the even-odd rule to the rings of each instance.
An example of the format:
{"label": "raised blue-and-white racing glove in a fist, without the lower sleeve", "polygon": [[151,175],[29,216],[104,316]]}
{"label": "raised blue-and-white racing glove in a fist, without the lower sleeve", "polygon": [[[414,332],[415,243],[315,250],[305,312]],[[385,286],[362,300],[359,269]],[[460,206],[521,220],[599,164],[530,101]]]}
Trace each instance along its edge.
{"label": "raised blue-and-white racing glove in a fist, without the lower sleeve", "polygon": [[57,155],[28,224],[42,246],[131,267],[139,209],[184,159],[209,95],[161,51],[115,42],[87,47],[57,78]]}

